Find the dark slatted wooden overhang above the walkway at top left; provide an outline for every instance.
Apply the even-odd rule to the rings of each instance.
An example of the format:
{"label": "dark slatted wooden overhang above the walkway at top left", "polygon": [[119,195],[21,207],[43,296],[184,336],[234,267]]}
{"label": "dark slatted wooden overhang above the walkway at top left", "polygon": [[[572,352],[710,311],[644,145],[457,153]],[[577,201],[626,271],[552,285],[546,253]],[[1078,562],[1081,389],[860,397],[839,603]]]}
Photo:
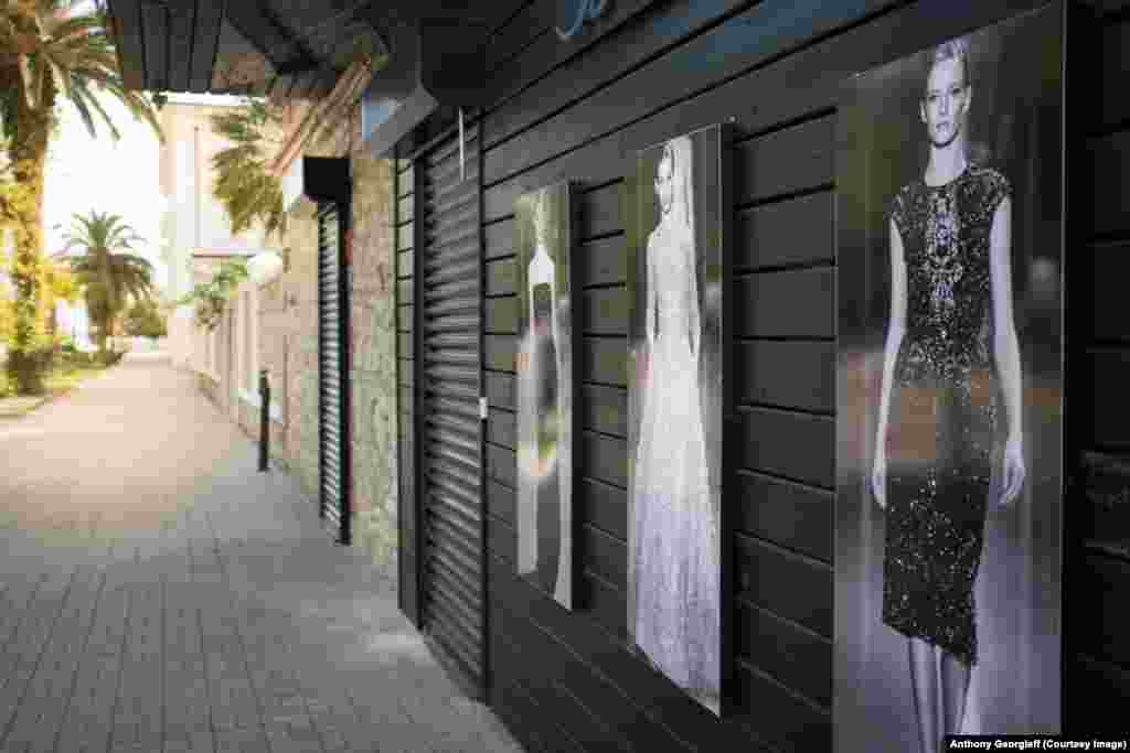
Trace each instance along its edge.
{"label": "dark slatted wooden overhang above the walkway at top left", "polygon": [[358,49],[390,53],[386,29],[463,25],[485,44],[516,0],[108,0],[129,89],[249,94],[278,99],[330,91]]}

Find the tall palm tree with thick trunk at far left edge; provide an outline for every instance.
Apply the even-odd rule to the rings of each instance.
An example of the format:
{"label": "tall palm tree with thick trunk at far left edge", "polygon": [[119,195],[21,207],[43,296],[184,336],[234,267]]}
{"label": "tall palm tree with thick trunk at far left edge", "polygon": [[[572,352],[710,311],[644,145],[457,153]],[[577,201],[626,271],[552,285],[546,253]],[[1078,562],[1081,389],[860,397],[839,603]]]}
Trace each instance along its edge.
{"label": "tall palm tree with thick trunk at far left edge", "polygon": [[7,161],[19,187],[18,200],[10,192],[7,200],[0,195],[0,220],[15,229],[11,277],[17,300],[8,369],[21,393],[43,389],[45,361],[40,353],[46,341],[38,315],[43,174],[55,104],[69,100],[92,135],[97,134],[97,119],[119,139],[96,96],[105,91],[160,137],[153,104],[125,89],[105,8],[98,3],[90,12],[76,12],[79,5],[79,0],[0,0],[0,121]]}

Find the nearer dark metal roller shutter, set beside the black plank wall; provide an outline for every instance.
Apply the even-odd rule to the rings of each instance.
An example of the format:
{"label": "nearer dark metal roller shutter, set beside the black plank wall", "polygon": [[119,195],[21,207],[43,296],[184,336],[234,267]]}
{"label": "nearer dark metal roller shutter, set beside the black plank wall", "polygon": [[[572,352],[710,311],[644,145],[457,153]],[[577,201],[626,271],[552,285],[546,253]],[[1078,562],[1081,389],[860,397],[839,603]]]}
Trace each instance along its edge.
{"label": "nearer dark metal roller shutter, set beside the black plank wall", "polygon": [[[467,134],[472,143],[476,134]],[[475,145],[477,147],[477,143]],[[468,156],[476,152],[468,150]],[[420,613],[429,645],[475,694],[485,672],[478,160],[458,139],[416,172],[416,436]]]}

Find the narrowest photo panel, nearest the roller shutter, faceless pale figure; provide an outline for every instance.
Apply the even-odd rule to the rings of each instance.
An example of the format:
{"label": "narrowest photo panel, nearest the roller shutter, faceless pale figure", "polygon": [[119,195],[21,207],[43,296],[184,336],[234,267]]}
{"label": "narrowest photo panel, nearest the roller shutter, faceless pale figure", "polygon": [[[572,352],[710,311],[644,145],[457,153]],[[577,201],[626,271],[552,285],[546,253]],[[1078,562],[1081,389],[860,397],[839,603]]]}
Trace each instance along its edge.
{"label": "narrowest photo panel, nearest the roller shutter, faceless pale figure", "polygon": [[572,186],[514,201],[518,572],[573,608]]}

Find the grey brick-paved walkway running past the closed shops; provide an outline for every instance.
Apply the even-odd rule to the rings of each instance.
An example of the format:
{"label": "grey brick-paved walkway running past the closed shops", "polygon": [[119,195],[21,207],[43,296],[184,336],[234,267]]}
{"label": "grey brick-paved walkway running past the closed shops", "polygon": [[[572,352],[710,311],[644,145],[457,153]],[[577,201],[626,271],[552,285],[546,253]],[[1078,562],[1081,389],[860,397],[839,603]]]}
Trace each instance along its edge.
{"label": "grey brick-paved walkway running past the closed shops", "polygon": [[0,420],[0,752],[521,748],[153,354]]}

